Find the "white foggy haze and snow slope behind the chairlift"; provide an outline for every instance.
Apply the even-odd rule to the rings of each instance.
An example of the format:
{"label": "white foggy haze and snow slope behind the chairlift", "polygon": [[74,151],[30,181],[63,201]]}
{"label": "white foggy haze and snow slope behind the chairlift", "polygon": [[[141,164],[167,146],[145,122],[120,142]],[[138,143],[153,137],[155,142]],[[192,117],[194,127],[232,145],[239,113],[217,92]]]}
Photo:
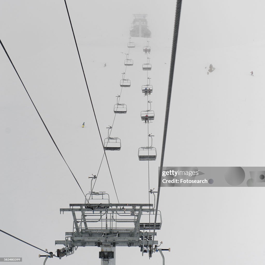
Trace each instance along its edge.
{"label": "white foggy haze and snow slope behind the chairlift", "polygon": [[[156,161],[150,187],[157,190],[176,1],[67,1],[101,135],[112,124],[120,93],[133,14],[148,14],[152,32],[149,76],[156,118]],[[264,166],[265,2],[183,0],[164,166]],[[85,192],[103,150],[64,1],[0,0],[0,38],[39,113]],[[140,120],[146,109],[141,69],[146,39],[134,38],[127,68],[131,87],[122,90],[126,115],[117,115],[112,136],[119,152],[107,152],[121,203],[148,203],[147,145]],[[104,64],[107,66],[104,68]],[[216,71],[207,75],[209,64]],[[254,77],[250,76],[254,72]],[[39,248],[62,248],[72,215],[59,209],[84,198],[56,150],[5,52],[0,49],[0,229]],[[85,128],[81,125],[85,122]],[[104,160],[95,191],[116,203]],[[166,264],[263,264],[263,188],[161,188]],[[100,264],[97,247],[46,264]],[[0,257],[43,264],[41,251],[0,234]],[[116,249],[119,264],[162,264],[140,248]]]}

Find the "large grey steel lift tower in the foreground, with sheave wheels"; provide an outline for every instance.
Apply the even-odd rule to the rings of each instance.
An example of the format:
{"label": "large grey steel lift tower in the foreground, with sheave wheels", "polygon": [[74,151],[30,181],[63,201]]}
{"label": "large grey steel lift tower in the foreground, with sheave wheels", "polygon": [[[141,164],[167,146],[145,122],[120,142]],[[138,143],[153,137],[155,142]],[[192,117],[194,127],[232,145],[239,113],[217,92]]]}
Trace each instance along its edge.
{"label": "large grey steel lift tower in the foreground, with sheave wheels", "polygon": [[[96,200],[98,203],[90,203]],[[60,209],[60,213],[64,212],[73,215],[73,231],[65,232],[64,240],[55,241],[56,245],[64,245],[57,249],[60,259],[74,254],[79,246],[99,247],[101,265],[115,265],[115,250],[119,246],[139,247],[142,255],[148,253],[149,257],[158,251],[162,255],[158,241],[154,241],[152,248],[153,235],[156,236],[154,223],[149,222],[149,218],[154,217],[153,204],[111,204],[108,193],[90,192],[84,204],[70,204],[69,208]],[[162,225],[160,211],[158,215],[155,230]]]}

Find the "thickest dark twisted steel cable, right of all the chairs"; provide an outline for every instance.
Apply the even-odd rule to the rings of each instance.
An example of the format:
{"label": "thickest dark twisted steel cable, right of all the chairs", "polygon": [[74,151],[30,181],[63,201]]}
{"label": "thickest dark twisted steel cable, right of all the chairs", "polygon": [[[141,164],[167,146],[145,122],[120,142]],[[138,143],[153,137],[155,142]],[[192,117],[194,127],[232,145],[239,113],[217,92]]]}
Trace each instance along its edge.
{"label": "thickest dark twisted steel cable, right of all the chairs", "polygon": [[[161,182],[161,179],[162,179],[162,170],[163,170],[162,167],[163,167],[163,163],[164,163],[166,134],[167,134],[167,125],[168,125],[168,117],[169,117],[169,107],[170,107],[172,83],[173,83],[173,76],[174,76],[174,66],[175,66],[175,59],[176,59],[176,48],[177,48],[177,42],[178,42],[181,3],[182,3],[182,0],[177,0],[176,13],[175,13],[174,36],[173,36],[173,45],[172,45],[171,63],[170,63],[170,72],[169,72],[169,84],[168,84],[168,90],[167,90],[165,125],[164,125],[164,134],[163,134],[163,142],[162,142],[160,170],[159,170],[159,176],[158,176],[156,215],[155,215],[155,219],[154,219],[154,234],[155,234],[155,230],[156,230],[157,209],[158,209],[159,195],[160,195],[160,182]],[[153,234],[153,241],[152,241],[152,249],[153,249],[153,245],[154,245],[154,234]],[[152,257],[152,252],[151,252],[151,257]]]}

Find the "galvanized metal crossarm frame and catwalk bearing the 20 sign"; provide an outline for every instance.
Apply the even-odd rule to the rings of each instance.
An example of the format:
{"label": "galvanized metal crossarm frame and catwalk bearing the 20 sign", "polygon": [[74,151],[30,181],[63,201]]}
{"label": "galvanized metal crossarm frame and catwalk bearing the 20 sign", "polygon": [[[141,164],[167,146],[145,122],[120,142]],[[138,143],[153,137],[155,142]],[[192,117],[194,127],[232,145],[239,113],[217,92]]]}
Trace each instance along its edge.
{"label": "galvanized metal crossarm frame and catwalk bearing the 20 sign", "polygon": [[[60,209],[60,213],[64,212],[73,215],[73,231],[65,233],[65,240],[56,240],[56,245],[74,248],[152,244],[153,232],[150,229],[154,224],[141,223],[141,217],[154,215],[153,204],[70,204],[69,208]],[[157,225],[156,229],[160,228],[161,225]]]}

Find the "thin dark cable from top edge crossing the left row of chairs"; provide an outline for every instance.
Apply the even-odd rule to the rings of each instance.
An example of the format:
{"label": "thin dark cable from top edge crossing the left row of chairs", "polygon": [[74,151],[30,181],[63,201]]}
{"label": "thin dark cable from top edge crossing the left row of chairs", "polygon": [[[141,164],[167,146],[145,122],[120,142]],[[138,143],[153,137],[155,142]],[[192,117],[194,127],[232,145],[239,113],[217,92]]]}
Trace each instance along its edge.
{"label": "thin dark cable from top edge crossing the left row of chairs", "polygon": [[99,132],[99,136],[100,136],[101,144],[102,144],[102,147],[103,147],[103,150],[104,150],[104,155],[105,155],[105,157],[106,157],[106,161],[107,161],[107,164],[108,164],[109,173],[110,173],[110,175],[111,175],[111,180],[112,180],[112,183],[113,183],[113,187],[114,187],[114,190],[115,190],[115,193],[116,193],[116,197],[117,197],[118,203],[120,203],[120,202],[119,202],[119,199],[118,199],[117,191],[116,191],[116,188],[115,188],[115,185],[114,185],[114,181],[113,181],[113,178],[112,178],[111,169],[110,169],[110,167],[109,167],[109,162],[108,162],[108,158],[107,158],[107,155],[106,155],[106,152],[105,152],[105,148],[104,148],[104,144],[103,144],[103,141],[102,141],[101,133],[100,133],[100,130],[99,130],[99,125],[98,125],[98,120],[97,120],[97,118],[96,118],[96,113],[95,113],[94,105],[93,105],[93,103],[92,103],[92,98],[91,98],[91,95],[90,95],[90,92],[89,92],[89,88],[88,88],[88,85],[87,85],[86,75],[85,75],[85,71],[84,71],[84,68],[83,68],[82,60],[81,60],[81,57],[80,57],[79,49],[78,49],[78,46],[77,46],[76,37],[75,37],[75,35],[74,35],[74,29],[73,29],[72,21],[71,21],[71,19],[70,19],[70,14],[69,14],[69,11],[68,11],[68,7],[67,7],[66,0],[64,0],[64,3],[65,3],[66,10],[67,10],[67,14],[68,14],[69,22],[70,22],[70,25],[71,25],[71,28],[72,28],[72,33],[73,33],[73,37],[74,37],[74,42],[75,42],[75,44],[76,44],[76,49],[77,49],[78,57],[79,57],[79,60],[80,60],[80,64],[81,64],[82,71],[83,71],[83,76],[84,76],[84,78],[85,78],[87,91],[88,91],[88,94],[89,94],[89,98],[90,98],[91,106],[92,106],[93,113],[94,113],[94,117],[95,117],[96,124],[97,124],[97,127],[98,127],[98,132]]}

